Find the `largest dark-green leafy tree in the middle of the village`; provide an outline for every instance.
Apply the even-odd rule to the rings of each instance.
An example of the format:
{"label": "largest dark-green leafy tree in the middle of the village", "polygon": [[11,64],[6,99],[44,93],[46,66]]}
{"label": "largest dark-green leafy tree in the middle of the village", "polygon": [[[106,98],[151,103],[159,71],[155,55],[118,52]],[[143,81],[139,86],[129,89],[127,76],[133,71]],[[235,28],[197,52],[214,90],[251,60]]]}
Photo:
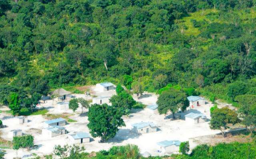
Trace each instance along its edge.
{"label": "largest dark-green leafy tree in the middle of the village", "polygon": [[107,104],[94,104],[88,111],[88,128],[92,137],[101,137],[101,140],[107,141],[114,137],[118,127],[125,126],[122,113],[113,106]]}

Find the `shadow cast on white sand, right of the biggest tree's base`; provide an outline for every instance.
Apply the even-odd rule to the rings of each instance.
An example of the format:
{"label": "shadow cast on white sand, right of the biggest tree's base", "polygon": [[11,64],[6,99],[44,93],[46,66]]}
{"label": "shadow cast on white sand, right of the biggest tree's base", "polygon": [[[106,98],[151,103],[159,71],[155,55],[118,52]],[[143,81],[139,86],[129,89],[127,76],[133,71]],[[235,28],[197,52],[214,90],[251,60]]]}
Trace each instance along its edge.
{"label": "shadow cast on white sand, right of the biggest tree's base", "polygon": [[127,139],[136,139],[138,137],[140,137],[140,135],[138,133],[134,133],[131,129],[119,129],[116,133],[116,136],[112,139],[109,139],[107,143],[121,143]]}

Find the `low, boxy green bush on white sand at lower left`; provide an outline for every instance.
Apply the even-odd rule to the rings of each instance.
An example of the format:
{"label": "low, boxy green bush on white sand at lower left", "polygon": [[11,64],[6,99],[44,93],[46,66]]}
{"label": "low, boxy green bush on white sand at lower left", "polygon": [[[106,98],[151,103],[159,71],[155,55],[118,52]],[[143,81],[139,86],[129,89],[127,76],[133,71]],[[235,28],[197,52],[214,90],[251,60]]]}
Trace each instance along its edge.
{"label": "low, boxy green bush on white sand at lower left", "polygon": [[12,144],[13,144],[13,149],[33,147],[34,137],[32,135],[13,137]]}

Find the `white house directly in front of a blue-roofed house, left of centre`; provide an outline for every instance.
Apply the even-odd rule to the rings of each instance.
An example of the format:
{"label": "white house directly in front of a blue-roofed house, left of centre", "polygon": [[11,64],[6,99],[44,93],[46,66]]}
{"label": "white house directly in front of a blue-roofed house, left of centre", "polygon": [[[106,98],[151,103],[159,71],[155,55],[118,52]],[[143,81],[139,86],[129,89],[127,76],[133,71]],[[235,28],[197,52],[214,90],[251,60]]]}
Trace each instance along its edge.
{"label": "white house directly in front of a blue-roofed house, left of centre", "polygon": [[53,125],[50,127],[47,127],[45,129],[42,129],[42,135],[46,138],[54,137],[57,135],[62,135],[66,133],[65,127]]}

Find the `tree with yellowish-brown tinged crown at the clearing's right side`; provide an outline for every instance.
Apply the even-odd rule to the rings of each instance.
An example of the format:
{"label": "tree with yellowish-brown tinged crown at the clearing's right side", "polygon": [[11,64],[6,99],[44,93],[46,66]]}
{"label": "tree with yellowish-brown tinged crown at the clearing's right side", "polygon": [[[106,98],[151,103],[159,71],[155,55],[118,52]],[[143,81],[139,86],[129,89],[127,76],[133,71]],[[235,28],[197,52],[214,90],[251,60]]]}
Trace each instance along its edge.
{"label": "tree with yellowish-brown tinged crown at the clearing's right side", "polygon": [[234,110],[223,107],[221,109],[214,109],[211,113],[210,128],[217,129],[222,132],[223,137],[225,137],[225,131],[228,127],[228,124],[236,124],[240,120],[238,115]]}

